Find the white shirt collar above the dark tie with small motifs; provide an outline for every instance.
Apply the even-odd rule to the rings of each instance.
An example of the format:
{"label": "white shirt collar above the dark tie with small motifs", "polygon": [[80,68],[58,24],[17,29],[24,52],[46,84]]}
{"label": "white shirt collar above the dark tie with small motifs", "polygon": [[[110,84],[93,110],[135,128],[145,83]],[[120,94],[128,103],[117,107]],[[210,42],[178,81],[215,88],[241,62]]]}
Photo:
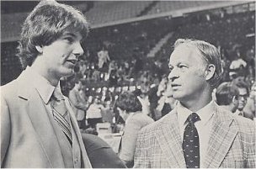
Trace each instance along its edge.
{"label": "white shirt collar above the dark tie with small motifs", "polygon": [[[185,121],[189,117],[189,114],[193,113],[188,108],[185,108],[181,103],[177,105],[177,112],[178,112],[179,126],[184,126]],[[210,103],[205,105],[204,108],[201,108],[195,113],[199,115],[201,119],[200,122],[202,122],[204,125],[207,124],[207,122],[211,119],[211,117],[214,114],[214,102],[211,101]]]}

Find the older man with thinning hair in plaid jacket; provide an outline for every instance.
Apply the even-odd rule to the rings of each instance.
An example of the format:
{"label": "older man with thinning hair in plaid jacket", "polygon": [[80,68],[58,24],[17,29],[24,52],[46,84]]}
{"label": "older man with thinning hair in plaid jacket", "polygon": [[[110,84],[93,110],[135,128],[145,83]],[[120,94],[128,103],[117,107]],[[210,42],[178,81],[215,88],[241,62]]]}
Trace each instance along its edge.
{"label": "older man with thinning hair in plaid jacket", "polygon": [[255,167],[255,126],[212,101],[221,78],[215,46],[177,40],[169,61],[172,112],[141,129],[135,167]]}

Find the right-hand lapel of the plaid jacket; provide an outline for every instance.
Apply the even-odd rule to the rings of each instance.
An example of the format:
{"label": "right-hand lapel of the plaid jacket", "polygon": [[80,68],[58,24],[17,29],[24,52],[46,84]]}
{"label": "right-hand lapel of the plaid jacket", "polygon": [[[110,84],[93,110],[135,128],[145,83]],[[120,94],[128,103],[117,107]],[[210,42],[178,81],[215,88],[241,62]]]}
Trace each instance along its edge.
{"label": "right-hand lapel of the plaid jacket", "polygon": [[237,128],[232,124],[231,114],[221,112],[217,106],[215,109],[216,114],[203,166],[205,168],[220,167],[237,135]]}

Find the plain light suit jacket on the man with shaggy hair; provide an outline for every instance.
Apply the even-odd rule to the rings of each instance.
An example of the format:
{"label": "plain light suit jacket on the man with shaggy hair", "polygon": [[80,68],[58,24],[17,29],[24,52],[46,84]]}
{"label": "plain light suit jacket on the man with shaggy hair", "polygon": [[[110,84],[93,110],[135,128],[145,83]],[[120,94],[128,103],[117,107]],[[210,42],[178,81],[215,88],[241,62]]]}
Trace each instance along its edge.
{"label": "plain light suit jacket on the man with shaggy hair", "polygon": [[[60,141],[45,103],[31,87],[28,71],[1,87],[1,167],[65,167]],[[72,125],[74,167],[91,167],[77,120],[65,98]]]}

